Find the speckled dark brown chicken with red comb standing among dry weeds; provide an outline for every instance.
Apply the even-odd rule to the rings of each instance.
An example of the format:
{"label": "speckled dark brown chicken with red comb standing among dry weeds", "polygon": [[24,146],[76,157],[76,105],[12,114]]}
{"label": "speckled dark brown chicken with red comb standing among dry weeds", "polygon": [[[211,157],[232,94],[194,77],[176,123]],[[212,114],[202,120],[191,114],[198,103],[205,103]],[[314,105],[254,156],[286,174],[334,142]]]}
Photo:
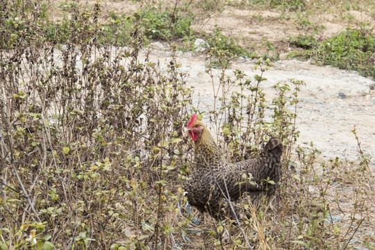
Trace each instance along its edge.
{"label": "speckled dark brown chicken with red comb standing among dry weeds", "polygon": [[[215,219],[240,216],[237,203],[244,192],[259,206],[263,196],[273,197],[281,180],[283,145],[271,138],[257,158],[238,163],[225,163],[217,144],[198,116],[188,122],[188,133],[194,142],[194,164],[185,183],[188,202],[202,213],[207,211]],[[250,175],[251,174],[251,175]],[[253,178],[249,181],[249,176]],[[265,183],[265,179],[274,184]]]}

